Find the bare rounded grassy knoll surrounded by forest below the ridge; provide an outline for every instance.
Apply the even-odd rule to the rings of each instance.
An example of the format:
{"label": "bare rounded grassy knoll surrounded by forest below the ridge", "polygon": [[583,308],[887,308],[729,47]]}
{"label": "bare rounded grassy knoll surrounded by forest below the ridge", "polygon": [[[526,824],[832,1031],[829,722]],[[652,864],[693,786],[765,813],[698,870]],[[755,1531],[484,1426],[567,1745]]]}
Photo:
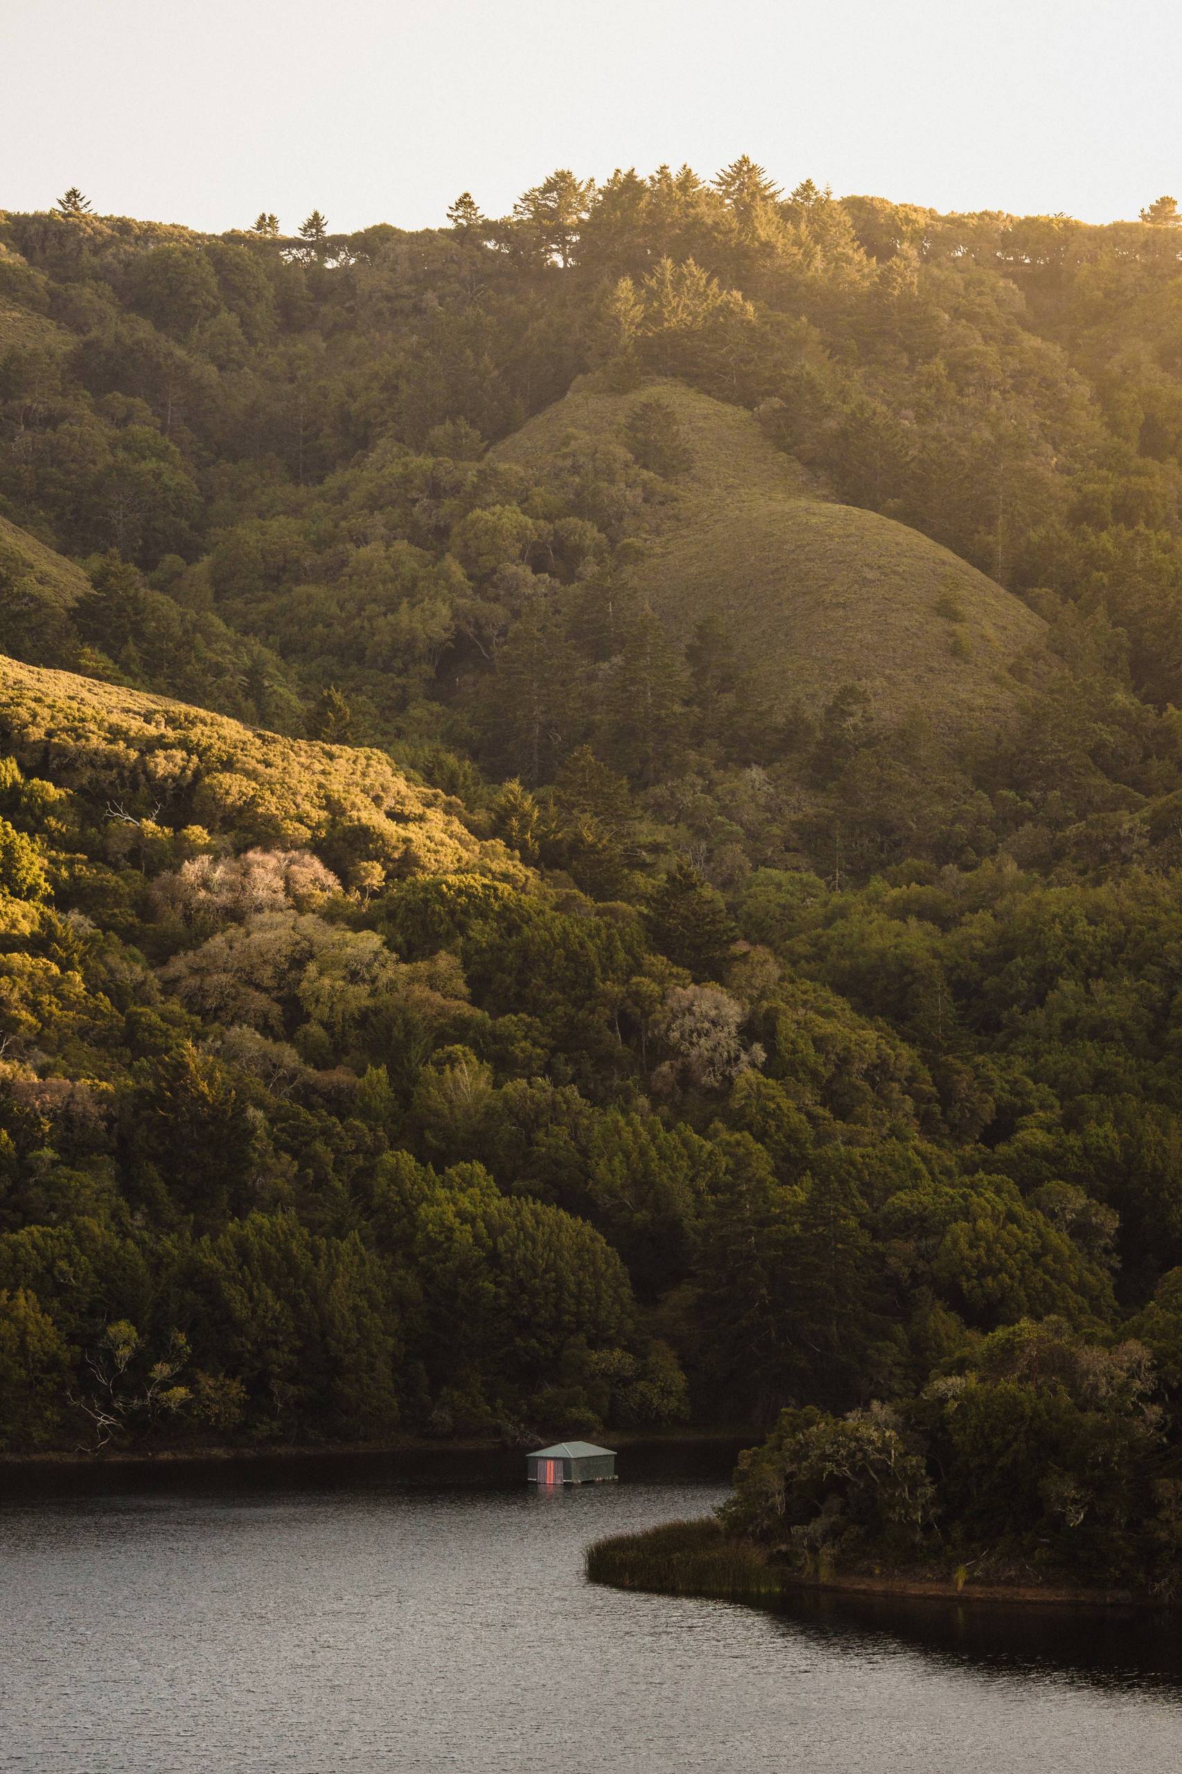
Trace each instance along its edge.
{"label": "bare rounded grassy knoll surrounded by forest below the ridge", "polygon": [[628,573],[678,640],[721,614],[774,710],[815,710],[859,683],[884,718],[1005,717],[1042,617],[905,523],[827,498],[749,412],[678,381],[618,394],[582,378],[497,456],[536,472],[579,435],[623,436],[651,399],[678,417],[692,459]]}

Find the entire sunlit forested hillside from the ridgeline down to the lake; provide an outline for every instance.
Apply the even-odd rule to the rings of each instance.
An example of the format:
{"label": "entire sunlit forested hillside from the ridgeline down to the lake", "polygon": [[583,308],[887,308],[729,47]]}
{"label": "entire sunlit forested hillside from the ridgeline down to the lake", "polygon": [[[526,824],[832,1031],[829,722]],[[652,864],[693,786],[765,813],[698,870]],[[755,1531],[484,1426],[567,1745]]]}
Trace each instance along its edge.
{"label": "entire sunlit forested hillside from the ridgeline down to the lake", "polygon": [[1171,199],[0,211],[0,1451],[1178,1591],[1180,495]]}

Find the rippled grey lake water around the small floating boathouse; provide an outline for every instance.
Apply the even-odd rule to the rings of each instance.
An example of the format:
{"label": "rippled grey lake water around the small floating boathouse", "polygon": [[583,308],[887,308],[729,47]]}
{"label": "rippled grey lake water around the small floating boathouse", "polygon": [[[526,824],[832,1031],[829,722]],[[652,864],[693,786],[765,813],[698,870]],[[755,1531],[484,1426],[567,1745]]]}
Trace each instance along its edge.
{"label": "rippled grey lake water around the small floating boathouse", "polygon": [[1182,1770],[1166,1618],[589,1586],[587,1540],[724,1494],[671,1462],[541,1495],[382,1462],[25,1481],[0,1503],[0,1769]]}

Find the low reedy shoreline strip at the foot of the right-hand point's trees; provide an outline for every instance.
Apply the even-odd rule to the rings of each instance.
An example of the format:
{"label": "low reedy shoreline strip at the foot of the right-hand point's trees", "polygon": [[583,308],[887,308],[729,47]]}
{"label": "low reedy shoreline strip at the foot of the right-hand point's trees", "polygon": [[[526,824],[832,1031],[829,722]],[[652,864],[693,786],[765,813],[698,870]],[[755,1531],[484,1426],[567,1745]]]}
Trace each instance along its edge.
{"label": "low reedy shoreline strip at the foot of the right-hand point's trees", "polygon": [[1148,1590],[1038,1582],[971,1582],[905,1572],[799,1572],[768,1559],[749,1540],[731,1540],[712,1519],[669,1522],[637,1535],[612,1535],[587,1547],[591,1582],[650,1595],[685,1595],[767,1607],[793,1595],[985,1607],[1177,1609]]}

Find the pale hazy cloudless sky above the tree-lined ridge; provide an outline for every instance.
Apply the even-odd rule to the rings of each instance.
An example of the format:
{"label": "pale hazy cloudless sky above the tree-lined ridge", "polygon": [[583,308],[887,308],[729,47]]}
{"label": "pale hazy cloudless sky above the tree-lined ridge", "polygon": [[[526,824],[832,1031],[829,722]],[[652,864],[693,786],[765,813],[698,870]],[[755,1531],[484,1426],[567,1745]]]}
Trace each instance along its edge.
{"label": "pale hazy cloudless sky above the tree-lined ridge", "polygon": [[942,209],[1182,199],[1178,0],[0,0],[0,209],[504,213],[740,153]]}

